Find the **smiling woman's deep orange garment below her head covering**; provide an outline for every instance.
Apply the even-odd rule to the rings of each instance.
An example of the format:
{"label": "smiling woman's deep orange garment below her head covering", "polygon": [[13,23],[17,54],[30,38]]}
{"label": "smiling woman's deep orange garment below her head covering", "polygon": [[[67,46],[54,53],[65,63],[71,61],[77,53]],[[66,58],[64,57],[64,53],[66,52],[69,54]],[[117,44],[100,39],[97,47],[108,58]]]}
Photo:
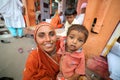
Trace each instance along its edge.
{"label": "smiling woman's deep orange garment below her head covering", "polygon": [[[57,50],[59,41],[57,41]],[[56,55],[59,61],[59,56]],[[27,59],[23,80],[56,80],[59,65],[42,50],[32,51]]]}

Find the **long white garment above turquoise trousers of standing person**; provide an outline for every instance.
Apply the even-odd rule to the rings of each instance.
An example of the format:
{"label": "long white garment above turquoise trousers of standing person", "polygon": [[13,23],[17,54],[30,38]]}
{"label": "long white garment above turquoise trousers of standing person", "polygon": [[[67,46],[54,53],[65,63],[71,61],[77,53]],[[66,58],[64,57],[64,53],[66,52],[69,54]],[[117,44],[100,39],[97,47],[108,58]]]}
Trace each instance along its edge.
{"label": "long white garment above turquoise trousers of standing person", "polygon": [[25,27],[20,0],[0,0],[0,13],[3,15],[7,27]]}

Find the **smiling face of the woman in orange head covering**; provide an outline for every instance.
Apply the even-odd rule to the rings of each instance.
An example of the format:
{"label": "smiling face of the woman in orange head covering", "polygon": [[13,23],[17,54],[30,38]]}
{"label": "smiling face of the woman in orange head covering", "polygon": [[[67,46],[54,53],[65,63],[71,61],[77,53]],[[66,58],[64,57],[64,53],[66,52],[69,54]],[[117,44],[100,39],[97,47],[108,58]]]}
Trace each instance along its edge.
{"label": "smiling face of the woman in orange head covering", "polygon": [[38,46],[47,53],[51,53],[56,47],[56,33],[50,26],[41,26],[37,31],[36,40]]}

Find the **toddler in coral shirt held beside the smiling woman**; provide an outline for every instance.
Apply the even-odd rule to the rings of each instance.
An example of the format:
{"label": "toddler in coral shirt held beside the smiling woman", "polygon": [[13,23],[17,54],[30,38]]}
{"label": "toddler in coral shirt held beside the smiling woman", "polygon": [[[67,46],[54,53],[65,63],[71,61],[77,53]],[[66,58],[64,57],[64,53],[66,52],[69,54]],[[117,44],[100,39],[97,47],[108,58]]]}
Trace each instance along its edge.
{"label": "toddler in coral shirt held beside the smiling woman", "polygon": [[79,80],[85,75],[85,57],[82,50],[88,38],[88,30],[79,24],[69,27],[67,37],[60,38],[60,72],[57,80]]}

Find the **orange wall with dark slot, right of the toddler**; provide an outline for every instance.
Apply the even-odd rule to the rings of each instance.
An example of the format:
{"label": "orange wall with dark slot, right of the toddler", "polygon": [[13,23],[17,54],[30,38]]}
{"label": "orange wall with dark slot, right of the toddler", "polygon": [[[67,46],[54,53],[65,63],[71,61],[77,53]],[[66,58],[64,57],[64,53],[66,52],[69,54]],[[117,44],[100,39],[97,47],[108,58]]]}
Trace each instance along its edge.
{"label": "orange wall with dark slot, right of the toddler", "polygon": [[[104,7],[107,6],[107,9],[102,8],[101,5]],[[87,57],[101,54],[120,20],[119,9],[120,0],[88,0],[84,25],[87,27],[90,34],[83,47]],[[98,34],[91,32],[91,25],[95,17],[98,18],[95,27],[97,25],[100,27]]]}

